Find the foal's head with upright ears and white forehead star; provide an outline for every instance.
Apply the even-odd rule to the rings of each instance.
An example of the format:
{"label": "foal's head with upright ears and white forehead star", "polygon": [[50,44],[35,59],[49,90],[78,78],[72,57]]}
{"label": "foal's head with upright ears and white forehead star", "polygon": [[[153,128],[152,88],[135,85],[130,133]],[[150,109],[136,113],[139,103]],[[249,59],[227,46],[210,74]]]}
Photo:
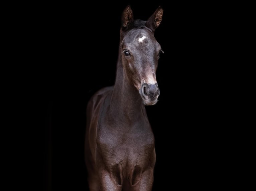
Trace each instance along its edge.
{"label": "foal's head with upright ears and white forehead star", "polygon": [[124,75],[138,90],[145,105],[153,105],[160,94],[156,81],[158,59],[163,51],[154,37],[162,21],[163,9],[159,6],[147,21],[134,20],[130,6],[122,14],[120,52]]}

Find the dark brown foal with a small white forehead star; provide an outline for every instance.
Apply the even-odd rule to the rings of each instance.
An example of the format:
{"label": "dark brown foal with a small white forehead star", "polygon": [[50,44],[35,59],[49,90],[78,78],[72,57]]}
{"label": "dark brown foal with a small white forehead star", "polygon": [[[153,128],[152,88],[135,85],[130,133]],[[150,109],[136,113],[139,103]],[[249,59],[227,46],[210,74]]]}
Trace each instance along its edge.
{"label": "dark brown foal with a small white forehead star", "polygon": [[133,20],[127,6],[121,18],[119,56],[113,87],[88,102],[85,160],[91,191],[152,190],[155,139],[145,106],[157,102],[156,69],[160,44],[154,31],[159,6],[147,21]]}

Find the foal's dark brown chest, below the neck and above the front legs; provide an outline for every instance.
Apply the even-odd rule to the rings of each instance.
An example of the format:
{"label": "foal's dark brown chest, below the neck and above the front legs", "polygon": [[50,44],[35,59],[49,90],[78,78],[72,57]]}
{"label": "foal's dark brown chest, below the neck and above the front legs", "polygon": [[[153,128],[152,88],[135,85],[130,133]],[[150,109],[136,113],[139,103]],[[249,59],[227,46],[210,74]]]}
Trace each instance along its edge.
{"label": "foal's dark brown chest, below the neck and above the front legs", "polygon": [[102,157],[109,164],[132,165],[148,162],[154,150],[154,136],[149,128],[128,131],[109,131],[99,133],[97,145]]}

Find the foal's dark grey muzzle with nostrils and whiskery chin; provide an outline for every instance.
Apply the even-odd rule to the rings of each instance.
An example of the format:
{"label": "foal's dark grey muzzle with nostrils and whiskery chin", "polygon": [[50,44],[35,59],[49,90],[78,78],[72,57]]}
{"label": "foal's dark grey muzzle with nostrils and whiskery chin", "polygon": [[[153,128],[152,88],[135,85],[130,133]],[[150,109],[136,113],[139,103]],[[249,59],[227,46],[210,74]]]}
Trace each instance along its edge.
{"label": "foal's dark grey muzzle with nostrils and whiskery chin", "polygon": [[160,95],[158,84],[143,83],[140,90],[140,96],[145,105],[154,105],[157,102],[157,98]]}

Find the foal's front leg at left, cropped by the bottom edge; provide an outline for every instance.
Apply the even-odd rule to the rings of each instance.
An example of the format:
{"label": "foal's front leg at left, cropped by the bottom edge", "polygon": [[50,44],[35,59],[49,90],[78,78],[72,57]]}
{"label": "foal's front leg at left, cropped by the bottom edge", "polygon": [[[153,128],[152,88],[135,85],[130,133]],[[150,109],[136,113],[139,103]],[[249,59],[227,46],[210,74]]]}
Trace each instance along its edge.
{"label": "foal's front leg at left, cropped by the bottom edge", "polygon": [[110,176],[110,173],[104,169],[101,170],[101,186],[103,191],[121,191],[122,186],[118,185],[113,178]]}

